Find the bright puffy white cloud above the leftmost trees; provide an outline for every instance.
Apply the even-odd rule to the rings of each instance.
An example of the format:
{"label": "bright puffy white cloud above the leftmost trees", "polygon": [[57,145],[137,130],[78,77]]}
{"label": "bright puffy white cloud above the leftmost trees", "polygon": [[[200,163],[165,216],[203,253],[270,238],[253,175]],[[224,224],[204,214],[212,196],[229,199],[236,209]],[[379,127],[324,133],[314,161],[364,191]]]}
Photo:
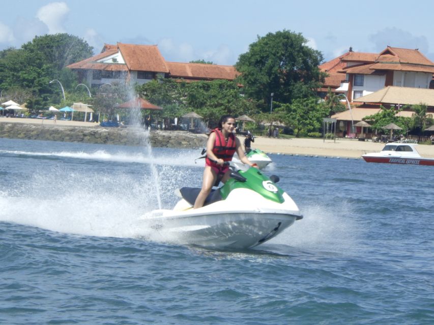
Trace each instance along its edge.
{"label": "bright puffy white cloud above the leftmost trees", "polygon": [[63,22],[69,12],[68,5],[64,2],[53,2],[39,8],[36,17],[48,27],[49,34],[65,32]]}

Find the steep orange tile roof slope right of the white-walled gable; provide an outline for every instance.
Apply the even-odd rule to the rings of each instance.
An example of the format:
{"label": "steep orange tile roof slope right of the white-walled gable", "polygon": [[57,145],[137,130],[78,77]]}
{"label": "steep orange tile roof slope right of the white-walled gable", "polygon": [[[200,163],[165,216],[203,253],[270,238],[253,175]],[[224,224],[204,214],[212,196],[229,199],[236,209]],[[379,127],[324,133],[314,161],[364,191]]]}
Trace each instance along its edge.
{"label": "steep orange tile roof slope right of the white-walled gable", "polygon": [[169,72],[157,45],[118,43],[118,47],[129,70]]}

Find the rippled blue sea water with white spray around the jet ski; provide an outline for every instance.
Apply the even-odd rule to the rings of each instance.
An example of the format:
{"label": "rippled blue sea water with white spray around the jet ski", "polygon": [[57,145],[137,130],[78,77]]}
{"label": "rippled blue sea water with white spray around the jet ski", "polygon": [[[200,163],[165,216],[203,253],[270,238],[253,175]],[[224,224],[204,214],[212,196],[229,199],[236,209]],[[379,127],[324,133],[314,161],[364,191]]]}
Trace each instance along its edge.
{"label": "rippled blue sea water with white spray around the jet ski", "polygon": [[304,218],[255,249],[138,227],[199,155],[0,139],[0,324],[434,323],[432,167],[273,154]]}

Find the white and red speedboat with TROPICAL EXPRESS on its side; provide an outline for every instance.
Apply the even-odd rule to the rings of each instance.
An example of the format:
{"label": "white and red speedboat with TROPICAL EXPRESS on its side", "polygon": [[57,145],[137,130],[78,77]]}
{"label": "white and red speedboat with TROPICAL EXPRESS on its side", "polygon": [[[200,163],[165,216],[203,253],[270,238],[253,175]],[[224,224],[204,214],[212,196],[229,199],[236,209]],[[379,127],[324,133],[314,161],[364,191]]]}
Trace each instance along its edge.
{"label": "white and red speedboat with TROPICAL EXPRESS on its side", "polygon": [[434,166],[434,158],[424,158],[416,150],[416,143],[388,143],[381,152],[362,154],[367,163]]}

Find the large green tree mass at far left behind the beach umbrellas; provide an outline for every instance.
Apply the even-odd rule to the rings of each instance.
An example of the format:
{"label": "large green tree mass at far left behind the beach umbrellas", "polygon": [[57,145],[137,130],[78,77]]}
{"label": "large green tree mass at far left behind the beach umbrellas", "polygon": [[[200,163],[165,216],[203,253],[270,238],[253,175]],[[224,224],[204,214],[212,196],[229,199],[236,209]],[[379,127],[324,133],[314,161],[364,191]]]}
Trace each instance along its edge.
{"label": "large green tree mass at far left behind the beach umbrellas", "polygon": [[[65,91],[74,91],[76,77],[68,64],[92,55],[92,47],[76,36],[55,34],[35,37],[20,49],[9,48],[0,52],[0,89],[27,89],[27,98],[20,100],[31,106],[45,107],[62,103],[59,85],[49,84],[59,80]],[[9,99],[18,98],[10,97]]]}

